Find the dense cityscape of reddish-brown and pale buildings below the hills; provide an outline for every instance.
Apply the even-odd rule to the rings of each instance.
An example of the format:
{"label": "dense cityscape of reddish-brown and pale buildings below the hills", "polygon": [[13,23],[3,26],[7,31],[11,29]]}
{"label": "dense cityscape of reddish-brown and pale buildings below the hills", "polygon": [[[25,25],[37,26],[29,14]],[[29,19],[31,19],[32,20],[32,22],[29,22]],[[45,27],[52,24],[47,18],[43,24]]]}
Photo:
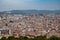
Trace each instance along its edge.
{"label": "dense cityscape of reddish-brown and pale buildings below the hills", "polygon": [[60,37],[60,15],[21,15],[21,14],[0,15],[0,38],[14,36],[26,36],[34,38],[36,36]]}

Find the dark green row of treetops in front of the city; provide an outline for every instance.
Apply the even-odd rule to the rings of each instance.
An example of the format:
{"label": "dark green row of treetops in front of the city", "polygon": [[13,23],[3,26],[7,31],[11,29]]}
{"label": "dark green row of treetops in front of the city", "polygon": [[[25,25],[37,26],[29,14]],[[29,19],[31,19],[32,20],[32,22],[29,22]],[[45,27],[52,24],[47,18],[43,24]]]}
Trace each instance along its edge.
{"label": "dark green row of treetops in front of the city", "polygon": [[34,38],[28,38],[28,37],[15,38],[14,36],[10,36],[8,38],[2,37],[0,40],[60,40],[60,37],[51,36],[50,38],[46,38],[46,36],[37,36]]}

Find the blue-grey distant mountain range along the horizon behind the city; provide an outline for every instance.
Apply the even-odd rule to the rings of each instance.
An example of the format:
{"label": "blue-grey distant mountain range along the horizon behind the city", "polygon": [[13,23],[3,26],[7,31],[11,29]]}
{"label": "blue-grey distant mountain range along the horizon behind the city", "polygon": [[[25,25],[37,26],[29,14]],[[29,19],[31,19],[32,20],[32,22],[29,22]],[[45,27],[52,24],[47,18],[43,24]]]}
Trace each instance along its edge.
{"label": "blue-grey distant mountain range along the horizon behind the city", "polygon": [[60,14],[60,10],[11,10],[0,12],[0,15],[2,14],[22,14],[22,15]]}

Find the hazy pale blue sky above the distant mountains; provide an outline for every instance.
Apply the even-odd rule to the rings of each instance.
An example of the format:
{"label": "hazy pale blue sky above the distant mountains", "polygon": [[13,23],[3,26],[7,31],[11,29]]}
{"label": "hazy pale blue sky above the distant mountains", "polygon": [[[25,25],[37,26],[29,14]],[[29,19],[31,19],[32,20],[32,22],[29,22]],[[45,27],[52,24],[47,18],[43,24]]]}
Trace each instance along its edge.
{"label": "hazy pale blue sky above the distant mountains", "polygon": [[0,0],[0,11],[28,9],[59,10],[60,0]]}

